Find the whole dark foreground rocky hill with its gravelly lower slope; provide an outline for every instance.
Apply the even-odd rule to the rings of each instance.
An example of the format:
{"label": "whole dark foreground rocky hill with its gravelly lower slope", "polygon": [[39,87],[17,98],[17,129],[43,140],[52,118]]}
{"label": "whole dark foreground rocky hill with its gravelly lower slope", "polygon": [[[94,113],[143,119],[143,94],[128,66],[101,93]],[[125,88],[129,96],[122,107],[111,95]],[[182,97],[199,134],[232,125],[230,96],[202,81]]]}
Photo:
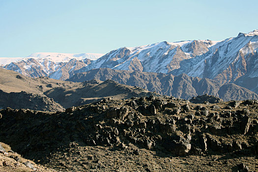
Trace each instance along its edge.
{"label": "whole dark foreground rocky hill with its gravelly lower slope", "polygon": [[258,171],[256,100],[150,95],[0,114],[1,142],[58,171]]}

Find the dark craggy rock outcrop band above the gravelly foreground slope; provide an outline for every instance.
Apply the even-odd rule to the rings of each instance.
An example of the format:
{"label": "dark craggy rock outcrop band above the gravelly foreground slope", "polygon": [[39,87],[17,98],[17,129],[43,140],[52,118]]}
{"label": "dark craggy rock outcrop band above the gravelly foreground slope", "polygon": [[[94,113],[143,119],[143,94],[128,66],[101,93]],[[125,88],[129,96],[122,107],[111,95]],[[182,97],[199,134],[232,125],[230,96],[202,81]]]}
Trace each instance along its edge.
{"label": "dark craggy rock outcrop band above the gravelly foreground slope", "polygon": [[[15,150],[19,147],[21,153],[28,151],[25,144],[29,143],[27,156],[38,158],[70,142],[90,146],[132,143],[139,148],[169,151],[179,156],[251,151],[257,146],[250,139],[258,132],[256,104],[249,105],[250,110],[243,104],[240,102],[237,109],[225,111],[227,102],[200,106],[151,95],[130,100],[103,99],[56,114],[8,108],[0,111],[3,128],[0,134],[5,133],[0,139],[12,144]],[[214,106],[222,108],[214,109]],[[11,125],[14,121],[15,125]],[[17,132],[12,135],[12,131]],[[14,142],[17,139],[25,142]]]}

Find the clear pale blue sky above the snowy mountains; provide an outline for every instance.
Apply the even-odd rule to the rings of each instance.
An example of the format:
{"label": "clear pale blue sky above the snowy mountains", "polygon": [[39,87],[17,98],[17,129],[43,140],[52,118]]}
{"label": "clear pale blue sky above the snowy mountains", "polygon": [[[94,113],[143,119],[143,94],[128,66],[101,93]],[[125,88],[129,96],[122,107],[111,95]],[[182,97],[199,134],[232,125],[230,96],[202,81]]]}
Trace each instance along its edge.
{"label": "clear pale blue sky above the snowy mountains", "polygon": [[258,29],[258,0],[0,0],[0,57],[108,53]]}

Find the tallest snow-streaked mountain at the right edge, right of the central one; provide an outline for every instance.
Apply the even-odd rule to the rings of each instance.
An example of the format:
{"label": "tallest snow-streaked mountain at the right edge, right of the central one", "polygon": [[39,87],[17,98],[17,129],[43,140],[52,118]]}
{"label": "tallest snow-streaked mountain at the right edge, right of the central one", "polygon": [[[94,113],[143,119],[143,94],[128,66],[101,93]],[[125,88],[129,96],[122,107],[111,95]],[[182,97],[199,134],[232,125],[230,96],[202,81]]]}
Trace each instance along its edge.
{"label": "tallest snow-streaked mountain at the right edge, right of the central one", "polygon": [[257,30],[248,34],[239,33],[237,37],[218,42],[201,56],[182,61],[181,67],[172,73],[215,79],[221,83],[234,82],[247,72],[258,75],[254,68],[249,67],[251,70],[247,71],[247,66],[256,65],[250,62],[257,59],[257,50]]}

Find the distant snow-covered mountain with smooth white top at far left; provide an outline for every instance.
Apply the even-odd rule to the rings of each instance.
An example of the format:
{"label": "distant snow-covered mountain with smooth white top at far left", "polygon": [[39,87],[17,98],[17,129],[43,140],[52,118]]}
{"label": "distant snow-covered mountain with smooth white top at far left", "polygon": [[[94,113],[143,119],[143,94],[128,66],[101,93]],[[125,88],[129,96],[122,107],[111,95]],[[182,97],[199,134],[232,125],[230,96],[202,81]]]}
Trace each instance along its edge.
{"label": "distant snow-covered mountain with smooth white top at far left", "polygon": [[78,70],[96,60],[103,54],[66,54],[66,53],[34,53],[25,58],[0,58],[2,65],[8,70],[17,71],[29,77],[49,76],[65,80]]}

